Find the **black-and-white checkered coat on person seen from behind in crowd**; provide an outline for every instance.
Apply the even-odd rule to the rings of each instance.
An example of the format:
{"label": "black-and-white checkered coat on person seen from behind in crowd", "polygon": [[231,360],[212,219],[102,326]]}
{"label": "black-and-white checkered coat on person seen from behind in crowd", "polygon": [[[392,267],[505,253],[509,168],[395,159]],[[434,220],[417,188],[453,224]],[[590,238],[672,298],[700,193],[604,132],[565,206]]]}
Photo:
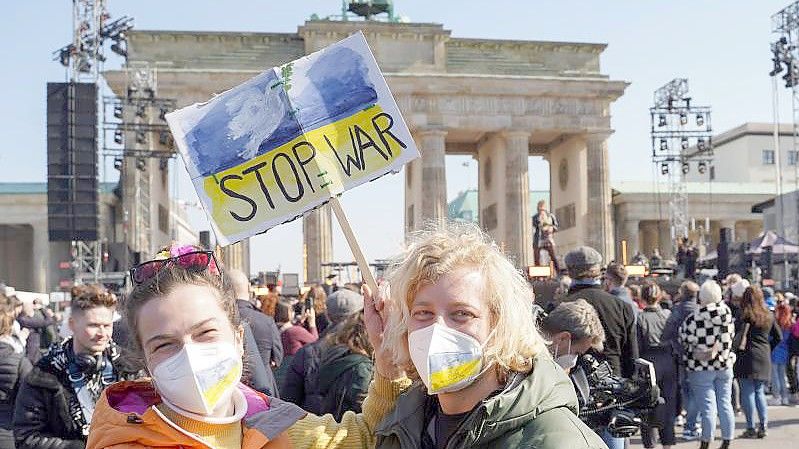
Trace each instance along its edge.
{"label": "black-and-white checkered coat on person seen from behind in crowd", "polygon": [[[735,335],[732,312],[724,302],[701,306],[689,315],[680,327],[680,342],[685,352],[683,364],[688,371],[722,371],[735,364],[735,351],[732,339]],[[713,346],[718,352],[709,361],[696,360],[694,351],[710,351]]]}

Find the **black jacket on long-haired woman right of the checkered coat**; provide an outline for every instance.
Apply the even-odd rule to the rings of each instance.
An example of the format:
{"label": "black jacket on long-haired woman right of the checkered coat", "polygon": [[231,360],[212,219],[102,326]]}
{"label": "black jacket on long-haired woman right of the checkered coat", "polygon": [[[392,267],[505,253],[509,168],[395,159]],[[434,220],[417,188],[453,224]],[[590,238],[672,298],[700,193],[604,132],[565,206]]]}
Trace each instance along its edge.
{"label": "black jacket on long-haired woman right of the checkered coat", "polygon": [[765,327],[749,325],[749,333],[746,337],[746,348],[738,349],[743,332],[746,330],[746,321],[743,318],[735,322],[735,338],[733,339],[733,351],[738,358],[733,365],[735,377],[743,379],[771,380],[771,350],[774,349],[782,340],[782,332],[773,317],[769,318],[769,323]]}

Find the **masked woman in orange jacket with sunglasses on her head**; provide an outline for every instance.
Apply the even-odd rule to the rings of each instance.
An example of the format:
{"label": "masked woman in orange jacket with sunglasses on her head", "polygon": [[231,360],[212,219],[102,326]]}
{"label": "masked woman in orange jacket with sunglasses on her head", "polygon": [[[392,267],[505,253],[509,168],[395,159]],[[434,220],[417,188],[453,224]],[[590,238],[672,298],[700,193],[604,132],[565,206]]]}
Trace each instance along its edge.
{"label": "masked woman in orange jacket with sunglasses on her head", "polygon": [[[87,448],[367,448],[407,387],[378,353],[363,413],[315,416],[240,383],[243,328],[213,253],[172,246],[131,270],[123,315],[152,379],[115,384],[97,405]],[[365,322],[380,346],[368,289]]]}

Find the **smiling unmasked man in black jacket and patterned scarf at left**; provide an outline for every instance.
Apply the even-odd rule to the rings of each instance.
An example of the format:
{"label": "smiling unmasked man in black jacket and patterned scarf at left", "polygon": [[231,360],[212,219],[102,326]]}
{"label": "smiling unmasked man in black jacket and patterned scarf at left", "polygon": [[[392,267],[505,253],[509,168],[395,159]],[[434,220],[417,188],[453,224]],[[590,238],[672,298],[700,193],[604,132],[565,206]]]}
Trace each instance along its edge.
{"label": "smiling unmasked man in black jacket and patterned scarf at left", "polygon": [[102,287],[72,290],[72,337],[53,345],[36,363],[17,395],[14,436],[18,449],[82,449],[103,389],[120,380],[111,332],[116,297]]}

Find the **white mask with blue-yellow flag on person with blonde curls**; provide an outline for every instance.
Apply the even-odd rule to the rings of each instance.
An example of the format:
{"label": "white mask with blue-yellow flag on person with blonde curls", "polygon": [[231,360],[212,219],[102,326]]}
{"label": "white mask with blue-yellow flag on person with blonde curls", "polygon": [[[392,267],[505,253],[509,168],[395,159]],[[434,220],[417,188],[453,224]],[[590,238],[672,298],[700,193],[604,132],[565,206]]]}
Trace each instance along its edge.
{"label": "white mask with blue-yellow flag on person with blonde curls", "polygon": [[483,346],[439,323],[408,335],[411,361],[430,394],[458,391],[483,373]]}

